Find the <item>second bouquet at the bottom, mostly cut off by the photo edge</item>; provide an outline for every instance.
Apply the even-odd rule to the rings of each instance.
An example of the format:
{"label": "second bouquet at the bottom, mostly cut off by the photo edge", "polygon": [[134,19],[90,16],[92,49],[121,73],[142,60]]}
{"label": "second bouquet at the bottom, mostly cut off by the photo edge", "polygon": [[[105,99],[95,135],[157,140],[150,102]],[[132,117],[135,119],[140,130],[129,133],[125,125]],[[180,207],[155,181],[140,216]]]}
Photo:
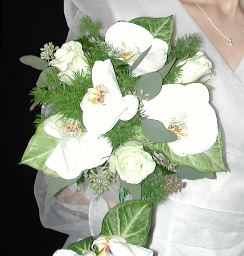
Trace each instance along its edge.
{"label": "second bouquet at the bottom, mostly cut off by the photo edge", "polygon": [[144,248],[151,226],[151,212],[149,202],[122,202],[104,216],[101,233],[96,239],[91,236],[71,243],[67,249],[55,251],[53,256],[153,256],[152,250]]}

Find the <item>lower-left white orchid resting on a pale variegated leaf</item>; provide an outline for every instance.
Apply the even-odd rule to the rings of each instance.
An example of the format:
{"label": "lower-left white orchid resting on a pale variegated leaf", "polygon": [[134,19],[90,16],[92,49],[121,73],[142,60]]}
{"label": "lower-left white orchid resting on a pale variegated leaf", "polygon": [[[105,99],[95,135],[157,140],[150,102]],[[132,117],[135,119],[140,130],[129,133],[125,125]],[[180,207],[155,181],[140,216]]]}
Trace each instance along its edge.
{"label": "lower-left white orchid resting on a pale variegated leaf", "polygon": [[112,152],[107,139],[83,132],[77,122],[62,123],[59,115],[45,120],[44,131],[59,139],[45,165],[63,179],[75,179],[82,171],[103,164]]}

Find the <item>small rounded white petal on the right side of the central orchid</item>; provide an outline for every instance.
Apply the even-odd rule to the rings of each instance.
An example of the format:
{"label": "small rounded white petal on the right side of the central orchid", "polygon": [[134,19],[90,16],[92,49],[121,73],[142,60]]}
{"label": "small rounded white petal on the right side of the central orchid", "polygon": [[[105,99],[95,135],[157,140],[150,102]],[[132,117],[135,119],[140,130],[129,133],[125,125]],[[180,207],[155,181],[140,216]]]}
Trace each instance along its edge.
{"label": "small rounded white petal on the right side of the central orchid", "polygon": [[120,120],[127,121],[132,119],[132,117],[134,117],[135,114],[137,114],[139,101],[138,101],[138,98],[135,97],[134,95],[124,96],[123,101],[126,106],[126,109],[121,114]]}

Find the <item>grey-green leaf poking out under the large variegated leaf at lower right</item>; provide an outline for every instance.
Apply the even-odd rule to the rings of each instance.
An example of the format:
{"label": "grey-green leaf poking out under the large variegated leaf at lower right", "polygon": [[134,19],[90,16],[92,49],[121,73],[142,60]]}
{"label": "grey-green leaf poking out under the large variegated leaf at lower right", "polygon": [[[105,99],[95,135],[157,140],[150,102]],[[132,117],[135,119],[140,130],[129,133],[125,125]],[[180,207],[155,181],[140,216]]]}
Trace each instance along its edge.
{"label": "grey-green leaf poking out under the large variegated leaf at lower right", "polygon": [[188,166],[178,165],[177,168],[180,169],[180,172],[177,173],[177,176],[180,179],[187,179],[187,180],[196,180],[196,179],[213,179],[213,172],[197,172]]}

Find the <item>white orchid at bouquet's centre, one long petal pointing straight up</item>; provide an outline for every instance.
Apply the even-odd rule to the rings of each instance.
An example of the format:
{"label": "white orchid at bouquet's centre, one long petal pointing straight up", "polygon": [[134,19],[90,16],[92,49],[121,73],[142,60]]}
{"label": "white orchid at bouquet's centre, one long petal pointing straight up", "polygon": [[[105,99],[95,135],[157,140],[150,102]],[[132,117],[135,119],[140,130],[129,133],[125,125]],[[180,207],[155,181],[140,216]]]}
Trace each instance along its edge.
{"label": "white orchid at bouquet's centre, one long petal pointing straight up", "polygon": [[82,122],[87,131],[104,134],[118,120],[130,120],[138,111],[134,95],[122,96],[111,60],[96,61],[92,68],[93,88],[81,101]]}

